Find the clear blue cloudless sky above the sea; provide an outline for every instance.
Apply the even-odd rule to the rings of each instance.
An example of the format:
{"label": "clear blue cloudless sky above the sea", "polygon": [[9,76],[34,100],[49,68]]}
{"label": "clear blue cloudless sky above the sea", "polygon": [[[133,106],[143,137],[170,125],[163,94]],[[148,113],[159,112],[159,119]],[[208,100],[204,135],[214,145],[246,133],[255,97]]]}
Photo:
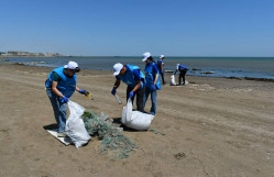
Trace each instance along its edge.
{"label": "clear blue cloudless sky above the sea", "polygon": [[274,0],[0,0],[0,52],[274,56]]}

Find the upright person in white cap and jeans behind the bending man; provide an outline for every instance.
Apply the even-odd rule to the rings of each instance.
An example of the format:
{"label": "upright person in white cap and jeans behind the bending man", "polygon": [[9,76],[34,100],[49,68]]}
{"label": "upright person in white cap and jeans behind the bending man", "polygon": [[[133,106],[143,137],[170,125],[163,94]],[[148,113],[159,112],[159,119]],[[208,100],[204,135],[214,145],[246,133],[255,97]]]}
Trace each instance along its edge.
{"label": "upright person in white cap and jeans behind the bending man", "polygon": [[158,76],[158,69],[153,60],[153,57],[150,53],[143,54],[143,62],[145,62],[145,92],[144,92],[144,107],[149,96],[151,95],[152,107],[150,113],[155,115],[156,114],[156,97],[157,97],[157,89],[161,90],[161,79]]}

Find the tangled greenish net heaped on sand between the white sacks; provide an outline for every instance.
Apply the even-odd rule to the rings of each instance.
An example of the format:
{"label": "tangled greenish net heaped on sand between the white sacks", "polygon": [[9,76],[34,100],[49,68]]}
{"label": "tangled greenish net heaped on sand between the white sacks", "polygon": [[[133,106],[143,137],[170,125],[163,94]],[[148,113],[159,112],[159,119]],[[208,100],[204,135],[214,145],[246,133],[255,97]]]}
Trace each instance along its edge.
{"label": "tangled greenish net heaped on sand between the white sacks", "polygon": [[91,136],[101,140],[100,152],[110,152],[114,159],[122,159],[130,156],[130,152],[139,146],[129,137],[124,136],[122,128],[112,123],[107,114],[100,115],[92,111],[85,111],[81,115],[85,128]]}

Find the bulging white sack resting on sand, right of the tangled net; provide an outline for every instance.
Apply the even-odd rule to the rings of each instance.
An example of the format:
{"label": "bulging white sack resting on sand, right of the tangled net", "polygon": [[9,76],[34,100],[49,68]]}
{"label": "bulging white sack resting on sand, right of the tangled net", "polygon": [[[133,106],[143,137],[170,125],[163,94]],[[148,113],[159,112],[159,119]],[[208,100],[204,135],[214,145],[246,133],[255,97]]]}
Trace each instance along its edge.
{"label": "bulging white sack resting on sand, right of the tangled net", "polygon": [[129,98],[127,106],[123,107],[121,121],[128,128],[143,131],[150,128],[153,118],[154,115],[147,113],[132,111],[132,101]]}

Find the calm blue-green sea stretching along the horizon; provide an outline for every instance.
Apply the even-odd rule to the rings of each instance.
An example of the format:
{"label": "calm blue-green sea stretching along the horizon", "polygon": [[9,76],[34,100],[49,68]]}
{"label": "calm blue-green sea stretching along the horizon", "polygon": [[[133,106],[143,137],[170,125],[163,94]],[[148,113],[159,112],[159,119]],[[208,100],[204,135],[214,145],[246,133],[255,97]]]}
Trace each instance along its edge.
{"label": "calm blue-green sea stretching along the horizon", "polygon": [[[132,64],[144,69],[142,57],[99,56],[99,57],[9,57],[9,63],[59,67],[69,60],[77,62],[80,68],[112,70],[116,63]],[[154,58],[157,60],[158,58]],[[0,60],[3,63],[4,60]],[[252,77],[274,79],[274,57],[168,57],[164,59],[165,70],[175,70],[176,64],[189,68],[187,75],[207,77]],[[193,70],[194,69],[194,70]],[[197,70],[198,69],[198,70]],[[210,71],[212,74],[205,74]]]}

